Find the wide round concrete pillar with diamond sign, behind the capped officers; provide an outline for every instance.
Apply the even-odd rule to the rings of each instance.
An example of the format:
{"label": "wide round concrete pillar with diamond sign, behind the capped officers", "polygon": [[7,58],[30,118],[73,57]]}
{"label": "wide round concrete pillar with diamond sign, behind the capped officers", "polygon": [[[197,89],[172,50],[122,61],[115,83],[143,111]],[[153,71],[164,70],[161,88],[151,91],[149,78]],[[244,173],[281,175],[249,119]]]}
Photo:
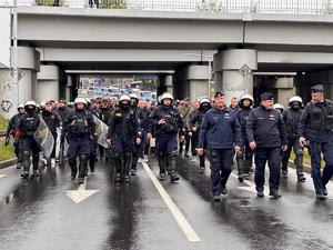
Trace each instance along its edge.
{"label": "wide round concrete pillar with diamond sign, behind the capped officers", "polygon": [[258,69],[256,50],[229,49],[214,54],[216,90],[222,87],[226,104],[232,97],[253,94],[253,71]]}

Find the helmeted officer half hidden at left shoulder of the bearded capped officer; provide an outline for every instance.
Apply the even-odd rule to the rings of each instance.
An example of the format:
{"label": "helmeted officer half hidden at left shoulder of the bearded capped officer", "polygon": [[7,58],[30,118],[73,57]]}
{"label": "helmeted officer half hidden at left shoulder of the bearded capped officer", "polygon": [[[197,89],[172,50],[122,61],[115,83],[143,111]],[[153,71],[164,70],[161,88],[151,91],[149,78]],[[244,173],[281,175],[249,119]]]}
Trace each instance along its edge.
{"label": "helmeted officer half hidden at left shoulder of the bearded capped officer", "polygon": [[[198,134],[198,140],[199,140],[200,128],[201,128],[203,117],[212,108],[210,99],[208,99],[208,98],[202,98],[199,103],[200,103],[200,107],[198,109],[198,112],[195,112],[193,114],[193,117],[190,121],[190,127],[191,127],[192,131]],[[195,148],[198,147],[198,141],[196,141],[196,144],[194,147]],[[200,173],[204,173],[204,170],[205,170],[205,152],[203,152],[201,156],[199,156],[199,168],[200,168]]]}

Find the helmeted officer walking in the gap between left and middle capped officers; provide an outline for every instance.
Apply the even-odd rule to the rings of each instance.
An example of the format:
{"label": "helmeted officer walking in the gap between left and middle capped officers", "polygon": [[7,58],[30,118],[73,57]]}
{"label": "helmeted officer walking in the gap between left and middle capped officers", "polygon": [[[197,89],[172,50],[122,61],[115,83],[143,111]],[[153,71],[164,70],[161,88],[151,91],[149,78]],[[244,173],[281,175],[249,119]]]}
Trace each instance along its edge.
{"label": "helmeted officer walking in the gap between left and middle capped officers", "polygon": [[250,171],[252,169],[253,150],[250,148],[246,140],[246,120],[252,110],[253,97],[251,94],[243,94],[240,98],[239,110],[236,117],[241,124],[242,140],[244,147],[236,153],[236,163],[239,170],[239,181],[242,182],[244,179],[249,180]]}

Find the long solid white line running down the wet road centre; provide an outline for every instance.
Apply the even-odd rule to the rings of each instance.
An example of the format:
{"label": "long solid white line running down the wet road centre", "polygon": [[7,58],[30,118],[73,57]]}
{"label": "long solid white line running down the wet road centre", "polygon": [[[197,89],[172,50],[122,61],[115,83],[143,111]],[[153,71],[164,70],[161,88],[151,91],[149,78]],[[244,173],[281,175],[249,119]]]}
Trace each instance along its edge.
{"label": "long solid white line running down the wet road centre", "polygon": [[191,242],[201,241],[201,239],[199,238],[196,232],[190,226],[190,223],[188,222],[185,217],[182,214],[182,212],[178,209],[178,207],[172,201],[172,199],[170,198],[170,196],[168,194],[168,192],[165,191],[163,186],[160,183],[160,181],[157,179],[154,173],[151,171],[149,166],[145,162],[141,162],[141,163],[143,166],[145,172],[148,173],[148,176],[152,180],[153,184],[158,189],[159,193],[161,194],[162,199],[164,200],[165,204],[170,209],[170,211],[171,211],[172,216],[174,217],[176,223],[179,224],[179,227],[182,229],[183,233],[188,238],[188,240],[191,241]]}

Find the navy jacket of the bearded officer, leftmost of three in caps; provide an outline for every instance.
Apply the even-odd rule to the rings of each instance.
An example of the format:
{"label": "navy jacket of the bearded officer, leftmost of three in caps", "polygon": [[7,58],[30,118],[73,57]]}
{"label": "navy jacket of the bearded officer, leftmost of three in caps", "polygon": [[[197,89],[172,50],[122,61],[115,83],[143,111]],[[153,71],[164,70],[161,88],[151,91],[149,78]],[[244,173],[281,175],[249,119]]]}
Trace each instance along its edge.
{"label": "navy jacket of the bearded officer, leftmost of three in caps", "polygon": [[243,147],[236,113],[230,108],[210,109],[201,123],[198,148],[231,149],[234,146]]}

